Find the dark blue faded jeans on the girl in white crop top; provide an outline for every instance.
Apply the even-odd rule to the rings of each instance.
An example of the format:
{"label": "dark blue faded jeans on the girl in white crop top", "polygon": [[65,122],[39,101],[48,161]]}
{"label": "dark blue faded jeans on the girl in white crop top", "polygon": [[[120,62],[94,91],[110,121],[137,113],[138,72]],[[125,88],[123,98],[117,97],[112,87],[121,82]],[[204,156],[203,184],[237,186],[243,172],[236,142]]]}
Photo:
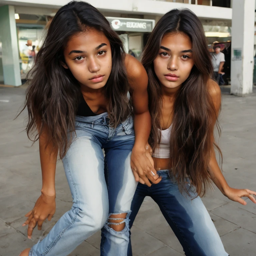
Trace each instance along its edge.
{"label": "dark blue faded jeans on the girl in white crop top", "polygon": [[[170,176],[168,170],[157,173],[162,176],[160,183],[151,187],[141,183],[137,186],[131,205],[130,228],[144,198],[150,196],[158,204],[186,256],[228,256],[208,211],[189,180],[187,189],[191,187],[191,197],[186,192],[180,192],[175,178]],[[131,241],[127,255],[132,256]]]}

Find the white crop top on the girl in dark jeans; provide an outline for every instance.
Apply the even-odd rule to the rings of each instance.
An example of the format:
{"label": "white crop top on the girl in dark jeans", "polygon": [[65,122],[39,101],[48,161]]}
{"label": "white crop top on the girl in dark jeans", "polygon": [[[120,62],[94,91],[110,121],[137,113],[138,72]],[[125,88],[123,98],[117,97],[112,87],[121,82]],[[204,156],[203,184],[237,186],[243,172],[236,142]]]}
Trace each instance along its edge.
{"label": "white crop top on the girl in dark jeans", "polygon": [[161,140],[156,147],[154,153],[152,154],[153,157],[156,158],[169,158],[170,157],[170,136],[171,136],[172,124],[166,130],[159,130],[161,132]]}

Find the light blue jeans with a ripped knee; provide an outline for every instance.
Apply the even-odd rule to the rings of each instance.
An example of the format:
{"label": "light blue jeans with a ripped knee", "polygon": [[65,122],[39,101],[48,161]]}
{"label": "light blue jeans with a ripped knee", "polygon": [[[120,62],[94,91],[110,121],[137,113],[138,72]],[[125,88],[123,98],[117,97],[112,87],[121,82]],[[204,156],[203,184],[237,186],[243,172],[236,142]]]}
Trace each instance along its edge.
{"label": "light blue jeans with a ripped knee", "polygon": [[[130,165],[133,119],[114,129],[107,116],[77,116],[76,137],[62,159],[73,206],[31,248],[29,256],[66,256],[100,229],[102,256],[127,255],[130,208],[137,186]],[[120,213],[127,216],[125,228],[117,232],[109,227],[112,219],[108,218]]]}

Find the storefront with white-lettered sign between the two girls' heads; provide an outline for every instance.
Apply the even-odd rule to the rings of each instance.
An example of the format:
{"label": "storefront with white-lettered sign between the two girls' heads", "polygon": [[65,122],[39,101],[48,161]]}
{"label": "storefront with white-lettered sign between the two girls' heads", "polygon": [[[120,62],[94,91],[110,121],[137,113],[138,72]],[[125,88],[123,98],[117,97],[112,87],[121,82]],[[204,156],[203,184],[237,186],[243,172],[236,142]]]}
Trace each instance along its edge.
{"label": "storefront with white-lettered sign between the two girls' heads", "polygon": [[149,33],[155,26],[155,20],[106,17],[113,30],[123,40],[126,53],[140,59]]}

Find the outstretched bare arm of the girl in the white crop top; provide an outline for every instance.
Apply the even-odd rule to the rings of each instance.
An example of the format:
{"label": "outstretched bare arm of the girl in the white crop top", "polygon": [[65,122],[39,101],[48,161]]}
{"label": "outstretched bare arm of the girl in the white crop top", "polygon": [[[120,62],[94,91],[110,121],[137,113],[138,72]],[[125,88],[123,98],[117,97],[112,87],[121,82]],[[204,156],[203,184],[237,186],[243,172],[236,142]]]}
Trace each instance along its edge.
{"label": "outstretched bare arm of the girl in the white crop top", "polygon": [[[218,84],[213,80],[208,81],[208,88],[209,88],[209,92],[212,97],[212,101],[216,111],[216,114],[213,113],[213,118],[214,118],[213,124],[215,124],[216,116],[218,116],[220,111],[220,106],[221,106],[221,91]],[[213,141],[214,141],[214,137],[212,134],[212,142]],[[218,187],[218,189],[223,193],[223,195],[228,197],[230,200],[239,202],[243,205],[246,205],[246,202],[241,198],[243,196],[249,197],[254,203],[256,203],[255,198],[251,195],[251,194],[256,195],[256,192],[251,191],[249,189],[235,189],[235,188],[229,187],[216,160],[213,144],[212,144],[212,150],[211,150],[211,158],[209,162],[209,169],[210,169],[211,179],[213,180],[214,184]]]}

